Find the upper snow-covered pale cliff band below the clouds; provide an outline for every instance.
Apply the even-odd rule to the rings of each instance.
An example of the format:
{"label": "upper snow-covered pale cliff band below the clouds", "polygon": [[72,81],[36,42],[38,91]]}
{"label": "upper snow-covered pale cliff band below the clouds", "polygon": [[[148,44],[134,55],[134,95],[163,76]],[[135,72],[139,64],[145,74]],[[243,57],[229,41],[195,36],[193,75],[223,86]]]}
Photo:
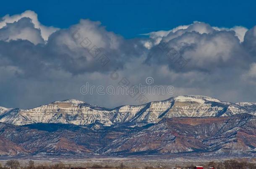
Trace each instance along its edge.
{"label": "upper snow-covered pale cliff band below the clouds", "polygon": [[256,103],[228,103],[206,96],[176,96],[139,106],[102,108],[74,99],[32,109],[0,108],[0,122],[15,125],[62,123],[80,126],[129,124],[144,126],[172,117],[256,115]]}

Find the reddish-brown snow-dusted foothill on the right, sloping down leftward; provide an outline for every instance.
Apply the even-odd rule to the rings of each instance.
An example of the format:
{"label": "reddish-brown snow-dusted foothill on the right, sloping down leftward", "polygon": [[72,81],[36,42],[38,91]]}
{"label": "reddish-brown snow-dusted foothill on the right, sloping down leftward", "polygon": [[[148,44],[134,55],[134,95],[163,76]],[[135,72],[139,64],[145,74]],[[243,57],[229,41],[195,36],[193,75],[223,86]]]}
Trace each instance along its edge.
{"label": "reddish-brown snow-dusted foothill on the right, sloping down leftward", "polygon": [[255,116],[178,117],[163,119],[147,129],[112,141],[100,153],[183,153],[233,151],[241,154],[256,146]]}

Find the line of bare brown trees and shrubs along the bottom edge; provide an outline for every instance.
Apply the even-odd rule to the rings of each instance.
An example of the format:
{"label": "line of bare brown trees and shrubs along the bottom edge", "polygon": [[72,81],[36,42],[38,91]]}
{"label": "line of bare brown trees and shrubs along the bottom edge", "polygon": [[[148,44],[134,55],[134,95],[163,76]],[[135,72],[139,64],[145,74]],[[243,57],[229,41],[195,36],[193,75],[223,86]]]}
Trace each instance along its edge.
{"label": "line of bare brown trees and shrubs along the bottom edge", "polygon": [[[190,166],[176,166],[176,168],[186,168],[186,169],[193,169],[195,165],[204,166],[204,169],[208,169],[209,167],[214,167],[214,169],[256,169],[256,163],[250,163],[246,161],[236,161],[236,160],[225,160],[221,162],[211,161],[207,164],[191,164]],[[63,163],[58,164],[40,164],[35,165],[34,161],[29,161],[29,163],[26,166],[21,166],[20,162],[17,160],[9,160],[5,164],[0,164],[0,169],[71,169],[71,168],[85,168],[84,166],[71,166]],[[120,166],[109,166],[109,165],[98,165],[94,164],[92,166],[86,166],[86,168],[89,169],[120,169]],[[128,168],[128,167],[123,167]],[[132,168],[132,167],[129,167]],[[136,166],[134,166],[136,168]],[[152,167],[152,166],[146,166],[145,169],[171,169],[171,167],[168,166],[162,166],[162,167]]]}

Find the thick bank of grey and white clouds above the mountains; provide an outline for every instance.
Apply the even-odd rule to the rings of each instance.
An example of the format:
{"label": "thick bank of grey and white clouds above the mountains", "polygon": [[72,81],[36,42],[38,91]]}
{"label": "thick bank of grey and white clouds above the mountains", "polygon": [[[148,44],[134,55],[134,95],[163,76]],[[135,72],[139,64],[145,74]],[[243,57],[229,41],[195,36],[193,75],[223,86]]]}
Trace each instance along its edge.
{"label": "thick bank of grey and white clouds above the mountains", "polygon": [[[154,85],[174,86],[175,95],[256,101],[255,32],[255,27],[194,22],[127,40],[88,19],[58,29],[39,23],[33,11],[5,15],[0,21],[0,106],[27,108],[67,98],[106,107],[139,104],[130,96],[81,95],[80,87],[86,81],[118,86],[123,79],[145,84],[149,76]],[[171,97],[145,96],[149,101]]]}

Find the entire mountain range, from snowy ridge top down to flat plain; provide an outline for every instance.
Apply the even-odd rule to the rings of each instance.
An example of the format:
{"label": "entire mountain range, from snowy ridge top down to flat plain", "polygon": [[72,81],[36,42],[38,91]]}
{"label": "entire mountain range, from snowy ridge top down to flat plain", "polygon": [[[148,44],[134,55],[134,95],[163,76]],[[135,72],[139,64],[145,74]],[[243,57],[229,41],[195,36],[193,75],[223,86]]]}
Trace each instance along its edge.
{"label": "entire mountain range, from snowy ridge top down to flat plain", "polygon": [[26,110],[1,107],[0,143],[0,155],[251,157],[256,103],[176,96],[112,109],[74,99]]}

